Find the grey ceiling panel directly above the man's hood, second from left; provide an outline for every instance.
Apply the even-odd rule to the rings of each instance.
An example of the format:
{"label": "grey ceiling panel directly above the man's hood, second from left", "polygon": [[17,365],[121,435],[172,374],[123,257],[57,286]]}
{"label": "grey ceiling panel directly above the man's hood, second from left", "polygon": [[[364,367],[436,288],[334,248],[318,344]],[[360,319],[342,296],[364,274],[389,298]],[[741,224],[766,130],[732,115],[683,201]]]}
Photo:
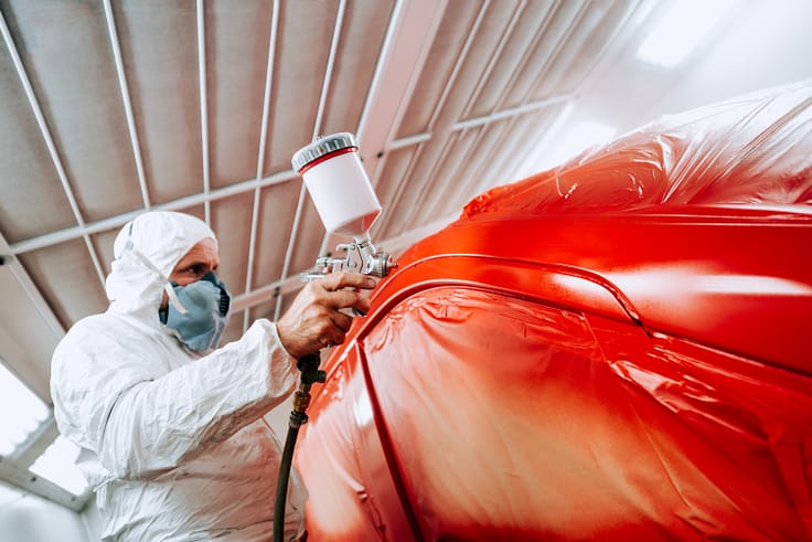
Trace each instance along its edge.
{"label": "grey ceiling panel directly above the man's hood, second from left", "polygon": [[117,79],[133,117],[136,145],[132,138],[129,145],[140,156],[148,201],[157,205],[201,192],[194,4],[133,0],[111,3],[108,13],[121,57]]}

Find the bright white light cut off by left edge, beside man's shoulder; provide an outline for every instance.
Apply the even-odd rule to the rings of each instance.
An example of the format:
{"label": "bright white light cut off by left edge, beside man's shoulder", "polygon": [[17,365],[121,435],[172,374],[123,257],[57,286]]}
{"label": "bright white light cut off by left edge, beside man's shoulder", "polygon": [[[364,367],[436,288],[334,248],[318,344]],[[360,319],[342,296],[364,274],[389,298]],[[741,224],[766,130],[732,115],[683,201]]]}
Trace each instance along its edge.
{"label": "bright white light cut off by left edge, beside man's shoulder", "polygon": [[0,363],[0,456],[13,456],[50,415],[45,403]]}

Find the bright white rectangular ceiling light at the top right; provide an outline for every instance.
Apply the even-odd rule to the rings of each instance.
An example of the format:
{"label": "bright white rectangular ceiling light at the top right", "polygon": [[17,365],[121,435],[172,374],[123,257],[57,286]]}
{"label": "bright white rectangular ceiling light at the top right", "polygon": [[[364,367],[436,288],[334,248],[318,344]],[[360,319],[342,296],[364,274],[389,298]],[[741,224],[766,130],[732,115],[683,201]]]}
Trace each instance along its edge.
{"label": "bright white rectangular ceiling light at the top right", "polygon": [[674,1],[643,40],[635,57],[674,67],[693,51],[730,9],[731,0]]}

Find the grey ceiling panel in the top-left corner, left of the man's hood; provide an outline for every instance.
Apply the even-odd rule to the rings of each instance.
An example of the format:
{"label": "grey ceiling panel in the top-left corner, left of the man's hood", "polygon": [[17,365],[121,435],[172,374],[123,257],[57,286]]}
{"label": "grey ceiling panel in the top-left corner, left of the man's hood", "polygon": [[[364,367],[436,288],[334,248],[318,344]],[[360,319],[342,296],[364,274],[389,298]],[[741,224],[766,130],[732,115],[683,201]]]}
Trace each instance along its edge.
{"label": "grey ceiling panel in the top-left corner, left of the man's hood", "polygon": [[12,1],[3,15],[81,217],[141,208],[101,6]]}

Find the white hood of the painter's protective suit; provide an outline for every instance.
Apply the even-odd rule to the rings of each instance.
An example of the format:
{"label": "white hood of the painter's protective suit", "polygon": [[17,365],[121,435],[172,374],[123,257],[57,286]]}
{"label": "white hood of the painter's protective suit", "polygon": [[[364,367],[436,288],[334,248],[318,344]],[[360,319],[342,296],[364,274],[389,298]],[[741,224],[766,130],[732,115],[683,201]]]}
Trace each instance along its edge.
{"label": "white hood of the painter's protective suit", "polygon": [[[145,313],[158,306],[178,262],[206,237],[216,241],[205,222],[171,211],[151,211],[124,225],[113,247],[115,259],[105,288],[110,310]],[[140,254],[140,256],[139,256]]]}

